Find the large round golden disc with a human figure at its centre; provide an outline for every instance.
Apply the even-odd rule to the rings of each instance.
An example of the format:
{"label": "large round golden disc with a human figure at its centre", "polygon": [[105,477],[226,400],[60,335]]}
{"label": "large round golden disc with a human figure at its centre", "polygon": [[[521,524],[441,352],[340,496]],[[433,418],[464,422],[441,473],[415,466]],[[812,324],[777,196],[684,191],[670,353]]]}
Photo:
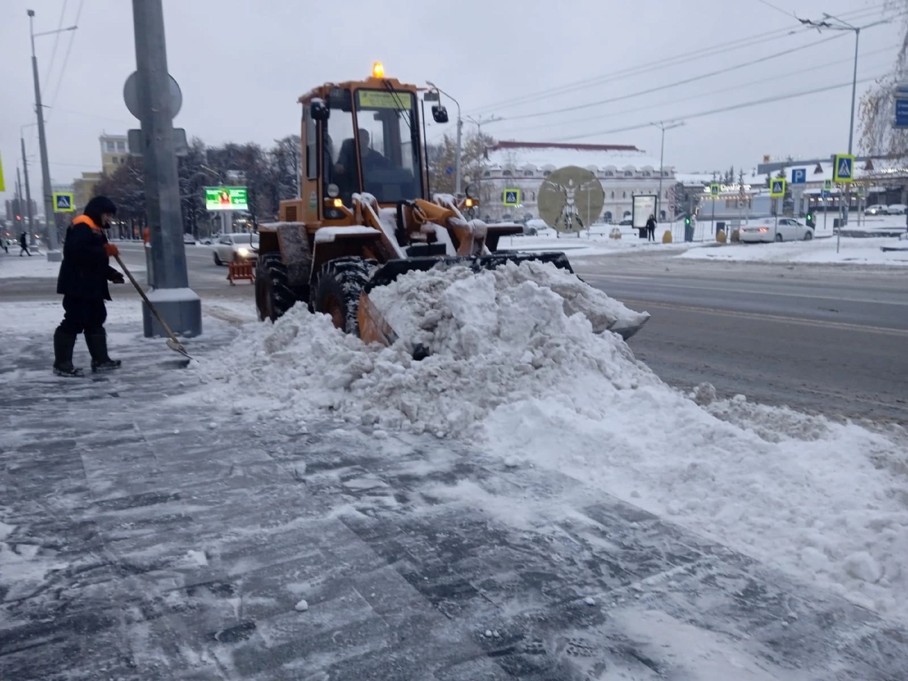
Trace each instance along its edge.
{"label": "large round golden disc with a human figure at its centre", "polygon": [[586,168],[558,168],[539,186],[539,217],[558,232],[580,232],[602,214],[606,192]]}

